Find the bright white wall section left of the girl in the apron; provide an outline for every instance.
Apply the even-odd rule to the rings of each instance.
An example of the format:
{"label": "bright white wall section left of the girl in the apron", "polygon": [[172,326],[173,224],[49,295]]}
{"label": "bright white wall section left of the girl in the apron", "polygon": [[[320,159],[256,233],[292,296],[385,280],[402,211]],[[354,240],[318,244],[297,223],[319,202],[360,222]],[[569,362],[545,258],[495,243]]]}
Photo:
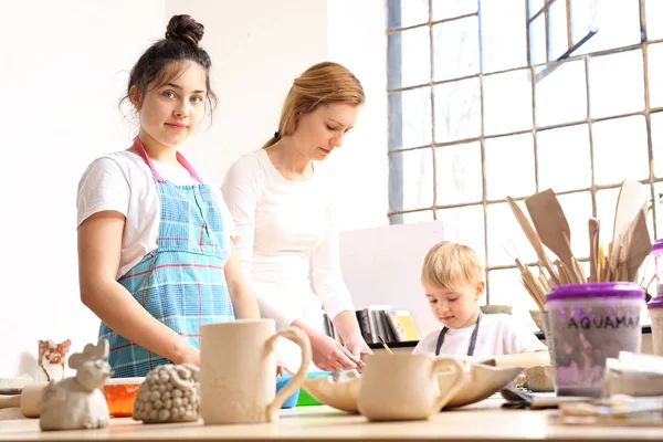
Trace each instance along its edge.
{"label": "bright white wall section left of the girl in the apron", "polygon": [[164,2],[0,2],[0,377],[38,375],[38,339],[96,340],[80,302],[76,186],[129,139],[126,70],[164,29]]}

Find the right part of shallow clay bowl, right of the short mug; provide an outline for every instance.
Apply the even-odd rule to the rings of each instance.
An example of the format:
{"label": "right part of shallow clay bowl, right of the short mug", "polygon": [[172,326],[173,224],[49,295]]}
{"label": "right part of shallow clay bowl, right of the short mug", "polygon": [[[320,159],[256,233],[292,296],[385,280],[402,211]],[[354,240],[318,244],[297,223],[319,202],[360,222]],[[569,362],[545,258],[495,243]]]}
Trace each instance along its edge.
{"label": "right part of shallow clay bowl, right of the short mug", "polygon": [[[483,364],[465,362],[467,376],[465,385],[449,401],[444,409],[457,408],[490,398],[502,390],[523,371],[520,367],[491,367]],[[439,376],[440,390],[449,389],[449,377]]]}

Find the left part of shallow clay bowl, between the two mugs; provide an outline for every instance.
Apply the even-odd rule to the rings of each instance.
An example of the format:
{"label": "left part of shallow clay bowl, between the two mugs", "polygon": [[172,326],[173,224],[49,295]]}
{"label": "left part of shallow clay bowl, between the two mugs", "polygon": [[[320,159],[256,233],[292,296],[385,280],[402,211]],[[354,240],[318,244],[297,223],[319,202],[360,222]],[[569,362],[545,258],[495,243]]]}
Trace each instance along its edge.
{"label": "left part of shallow clay bowl, between the two mugs", "polygon": [[358,413],[357,398],[359,397],[359,381],[361,378],[352,378],[335,382],[329,376],[305,378],[302,388],[314,399],[332,408]]}

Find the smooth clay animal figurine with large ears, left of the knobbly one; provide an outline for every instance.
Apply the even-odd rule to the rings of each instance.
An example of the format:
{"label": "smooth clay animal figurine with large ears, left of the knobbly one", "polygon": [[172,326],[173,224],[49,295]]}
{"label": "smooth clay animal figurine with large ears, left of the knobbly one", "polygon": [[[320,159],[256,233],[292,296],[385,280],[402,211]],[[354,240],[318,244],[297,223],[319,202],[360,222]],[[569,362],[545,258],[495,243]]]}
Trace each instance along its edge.
{"label": "smooth clay animal figurine with large ears, left of the knobbly one", "polygon": [[69,366],[76,375],[61,381],[51,381],[40,403],[42,430],[94,429],[108,424],[108,404],[104,381],[110,377],[108,341],[88,344],[83,352],[70,357]]}

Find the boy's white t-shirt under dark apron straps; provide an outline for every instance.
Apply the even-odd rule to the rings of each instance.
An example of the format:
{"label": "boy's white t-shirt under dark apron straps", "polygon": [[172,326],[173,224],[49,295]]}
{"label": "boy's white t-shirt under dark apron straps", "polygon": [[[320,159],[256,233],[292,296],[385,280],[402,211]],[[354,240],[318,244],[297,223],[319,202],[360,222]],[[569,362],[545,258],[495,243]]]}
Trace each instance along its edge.
{"label": "boy's white t-shirt under dark apron straps", "polygon": [[[440,355],[467,356],[472,332],[476,325],[450,328],[444,336]],[[435,354],[440,329],[429,333],[412,352]],[[483,315],[476,334],[474,356],[517,355],[546,350],[547,347],[512,315]]]}

